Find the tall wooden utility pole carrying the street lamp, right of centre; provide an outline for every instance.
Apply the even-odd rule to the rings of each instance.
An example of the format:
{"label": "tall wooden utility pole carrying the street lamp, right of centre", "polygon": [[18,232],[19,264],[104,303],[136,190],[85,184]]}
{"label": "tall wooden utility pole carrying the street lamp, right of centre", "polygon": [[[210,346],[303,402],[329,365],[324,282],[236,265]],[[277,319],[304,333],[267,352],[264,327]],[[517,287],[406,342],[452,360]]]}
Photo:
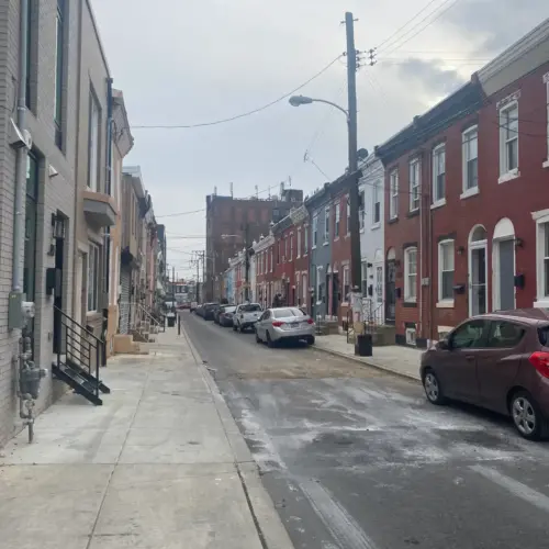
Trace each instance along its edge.
{"label": "tall wooden utility pole carrying the street lamp, right of centre", "polygon": [[[347,91],[348,91],[348,131],[349,131],[349,177],[357,176],[349,186],[350,214],[350,285],[352,293],[360,293],[361,255],[360,255],[360,223],[359,223],[359,192],[358,192],[358,157],[357,157],[357,51],[355,48],[355,19],[351,12],[345,13],[347,31]],[[358,298],[358,296],[357,296]]]}

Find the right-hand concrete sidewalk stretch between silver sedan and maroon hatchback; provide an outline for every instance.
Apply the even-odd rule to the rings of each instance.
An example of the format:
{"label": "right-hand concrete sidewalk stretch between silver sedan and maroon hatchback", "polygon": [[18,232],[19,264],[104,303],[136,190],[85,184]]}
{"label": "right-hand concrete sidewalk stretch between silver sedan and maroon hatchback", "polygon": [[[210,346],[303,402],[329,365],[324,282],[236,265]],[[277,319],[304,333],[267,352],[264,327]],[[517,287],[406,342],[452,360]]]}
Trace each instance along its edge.
{"label": "right-hand concrete sidewalk stretch between silver sedan and maroon hatchback", "polygon": [[402,347],[400,345],[373,347],[373,356],[357,357],[355,356],[355,345],[348,344],[345,335],[328,335],[316,336],[315,348],[404,378],[419,380],[422,351],[412,347]]}

